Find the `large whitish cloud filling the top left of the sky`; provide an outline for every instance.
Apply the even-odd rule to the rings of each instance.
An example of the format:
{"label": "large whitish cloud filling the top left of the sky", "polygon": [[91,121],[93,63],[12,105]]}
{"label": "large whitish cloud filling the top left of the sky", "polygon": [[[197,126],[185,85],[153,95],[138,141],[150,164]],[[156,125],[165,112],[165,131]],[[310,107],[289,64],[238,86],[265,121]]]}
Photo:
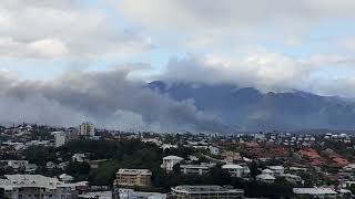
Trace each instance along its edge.
{"label": "large whitish cloud filling the top left of the sky", "polygon": [[4,0],[0,4],[0,57],[97,57],[152,48],[140,30],[126,30],[83,1]]}

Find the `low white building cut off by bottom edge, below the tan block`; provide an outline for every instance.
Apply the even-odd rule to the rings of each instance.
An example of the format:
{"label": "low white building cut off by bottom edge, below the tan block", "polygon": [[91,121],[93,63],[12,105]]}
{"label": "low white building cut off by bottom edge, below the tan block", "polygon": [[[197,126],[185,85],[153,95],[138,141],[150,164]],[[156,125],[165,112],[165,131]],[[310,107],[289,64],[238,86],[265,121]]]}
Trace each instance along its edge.
{"label": "low white building cut off by bottom edge, below the tan block", "polygon": [[134,191],[133,189],[115,189],[113,199],[165,199],[165,193]]}

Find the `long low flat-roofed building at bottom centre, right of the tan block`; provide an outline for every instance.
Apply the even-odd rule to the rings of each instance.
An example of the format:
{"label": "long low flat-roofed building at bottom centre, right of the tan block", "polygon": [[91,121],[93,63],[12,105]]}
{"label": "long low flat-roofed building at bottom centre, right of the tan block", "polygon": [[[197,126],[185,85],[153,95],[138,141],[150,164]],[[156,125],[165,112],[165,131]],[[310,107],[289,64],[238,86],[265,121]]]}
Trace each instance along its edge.
{"label": "long low flat-roofed building at bottom centre, right of the tan block", "polygon": [[178,186],[171,188],[174,198],[205,199],[205,198],[244,198],[244,190],[229,189],[221,186]]}

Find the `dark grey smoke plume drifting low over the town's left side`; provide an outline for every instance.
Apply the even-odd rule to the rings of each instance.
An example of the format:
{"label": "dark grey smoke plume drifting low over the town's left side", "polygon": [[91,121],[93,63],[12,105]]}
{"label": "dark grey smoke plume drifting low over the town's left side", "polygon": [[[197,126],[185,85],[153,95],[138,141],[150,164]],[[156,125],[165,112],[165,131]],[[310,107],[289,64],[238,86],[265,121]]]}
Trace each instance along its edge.
{"label": "dark grey smoke plume drifting low over the town's left side", "polygon": [[130,71],[65,73],[50,82],[1,75],[0,122],[38,122],[148,130],[222,130],[221,121],[193,101],[173,101],[126,78]]}

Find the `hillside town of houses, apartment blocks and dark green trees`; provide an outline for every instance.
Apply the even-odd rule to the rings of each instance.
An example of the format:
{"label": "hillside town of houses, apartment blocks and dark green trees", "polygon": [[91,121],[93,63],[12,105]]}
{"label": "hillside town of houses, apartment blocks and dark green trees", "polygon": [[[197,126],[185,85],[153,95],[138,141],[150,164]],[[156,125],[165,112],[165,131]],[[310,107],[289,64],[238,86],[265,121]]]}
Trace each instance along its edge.
{"label": "hillside town of houses, apartment blocks and dark green trees", "polygon": [[355,136],[0,127],[0,198],[353,198]]}

